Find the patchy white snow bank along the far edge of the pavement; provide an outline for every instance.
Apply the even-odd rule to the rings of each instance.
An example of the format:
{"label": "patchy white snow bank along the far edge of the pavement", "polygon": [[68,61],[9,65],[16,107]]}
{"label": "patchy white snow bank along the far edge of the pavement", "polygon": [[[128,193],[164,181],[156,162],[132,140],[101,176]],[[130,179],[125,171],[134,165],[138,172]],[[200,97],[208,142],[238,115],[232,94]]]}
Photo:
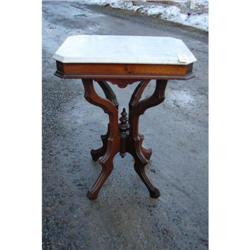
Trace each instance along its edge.
{"label": "patchy white snow bank along the far edge of the pavement", "polygon": [[111,6],[192,26],[208,31],[208,0],[129,1],[83,0],[86,4]]}

